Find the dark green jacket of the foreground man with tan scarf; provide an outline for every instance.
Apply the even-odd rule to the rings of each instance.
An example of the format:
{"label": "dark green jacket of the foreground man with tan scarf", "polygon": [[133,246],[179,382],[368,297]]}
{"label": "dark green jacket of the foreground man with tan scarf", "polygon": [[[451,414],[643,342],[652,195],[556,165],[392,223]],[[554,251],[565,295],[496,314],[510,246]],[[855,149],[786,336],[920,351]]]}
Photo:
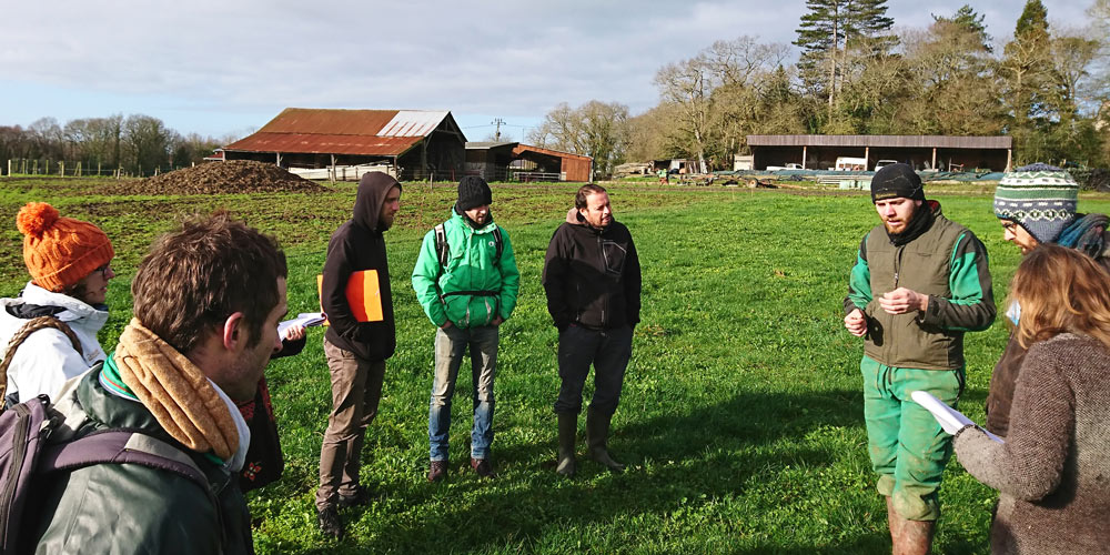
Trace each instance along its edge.
{"label": "dark green jacket of the foreground man with tan scarf", "polygon": [[[98,364],[69,396],[59,398],[59,408],[69,415],[67,424],[74,414],[79,418],[74,421],[79,424],[73,437],[127,427],[169,443],[189,455],[209,477],[221,509],[216,511],[195,482],[147,466],[99,464],[68,474],[54,473],[49,483],[36,484],[37,500],[31,500],[24,516],[23,538],[38,541],[24,552],[253,553],[251,516],[236,476],[209,458],[211,455],[189,451],[170,437],[141,403],[105,391],[100,374]],[[68,400],[74,410],[64,406]]]}

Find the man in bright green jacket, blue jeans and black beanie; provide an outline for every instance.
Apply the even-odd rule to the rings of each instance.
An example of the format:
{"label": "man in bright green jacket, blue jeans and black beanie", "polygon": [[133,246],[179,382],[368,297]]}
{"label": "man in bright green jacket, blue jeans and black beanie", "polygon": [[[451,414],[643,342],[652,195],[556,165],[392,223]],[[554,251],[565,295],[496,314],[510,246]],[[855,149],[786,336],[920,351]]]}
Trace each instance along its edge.
{"label": "man in bright green jacket, blue jeans and black beanie", "polygon": [[447,471],[451,397],[467,347],[474,381],[471,467],[481,477],[496,477],[490,464],[490,444],[497,329],[516,306],[521,273],[508,233],[494,223],[490,213],[492,202],[484,179],[464,176],[458,182],[458,201],[451,219],[424,235],[413,270],[416,297],[437,327],[427,423],[432,458],[428,482],[438,481]]}

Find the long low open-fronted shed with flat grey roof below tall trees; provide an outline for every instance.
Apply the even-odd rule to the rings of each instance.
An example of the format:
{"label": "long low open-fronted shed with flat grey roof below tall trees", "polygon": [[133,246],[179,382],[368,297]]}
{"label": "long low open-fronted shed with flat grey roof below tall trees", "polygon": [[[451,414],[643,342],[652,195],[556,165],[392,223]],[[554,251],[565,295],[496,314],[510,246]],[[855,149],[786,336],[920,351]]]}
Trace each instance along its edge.
{"label": "long low open-fronted shed with flat grey roof below tall trees", "polygon": [[1008,171],[1013,155],[1009,137],[944,135],[748,135],[753,168],[800,164],[808,170],[836,168],[838,158],[861,158],[868,170],[880,160],[918,170]]}

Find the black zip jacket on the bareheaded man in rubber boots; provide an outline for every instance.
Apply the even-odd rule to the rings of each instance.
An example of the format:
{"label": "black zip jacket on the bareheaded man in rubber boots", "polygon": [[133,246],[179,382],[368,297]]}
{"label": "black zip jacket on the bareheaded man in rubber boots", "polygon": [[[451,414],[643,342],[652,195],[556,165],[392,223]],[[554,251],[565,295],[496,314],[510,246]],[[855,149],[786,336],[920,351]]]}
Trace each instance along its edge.
{"label": "black zip jacket on the bareheaded man in rubber boots", "polygon": [[572,209],[547,245],[543,284],[547,312],[559,330],[639,323],[639,256],[628,228],[615,220],[594,229]]}

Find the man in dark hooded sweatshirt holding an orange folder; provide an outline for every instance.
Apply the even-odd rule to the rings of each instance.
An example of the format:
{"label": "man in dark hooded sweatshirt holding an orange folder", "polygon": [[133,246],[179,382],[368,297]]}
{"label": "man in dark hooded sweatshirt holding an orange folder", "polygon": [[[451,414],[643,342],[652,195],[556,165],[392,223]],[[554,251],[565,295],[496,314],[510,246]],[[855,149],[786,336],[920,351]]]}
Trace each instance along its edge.
{"label": "man in dark hooded sweatshirt holding an orange folder", "polygon": [[[377,415],[385,360],[397,344],[382,233],[400,209],[401,183],[382,172],[367,173],[359,182],[353,215],[327,243],[320,300],[331,324],[324,355],[332,375],[332,413],[320,448],[316,516],[320,529],[334,537],[343,536],[337,509],[369,501],[359,485],[359,455],[366,427]],[[352,306],[349,301],[352,279],[369,283],[363,290],[366,303]],[[362,310],[365,305],[370,309]]]}

